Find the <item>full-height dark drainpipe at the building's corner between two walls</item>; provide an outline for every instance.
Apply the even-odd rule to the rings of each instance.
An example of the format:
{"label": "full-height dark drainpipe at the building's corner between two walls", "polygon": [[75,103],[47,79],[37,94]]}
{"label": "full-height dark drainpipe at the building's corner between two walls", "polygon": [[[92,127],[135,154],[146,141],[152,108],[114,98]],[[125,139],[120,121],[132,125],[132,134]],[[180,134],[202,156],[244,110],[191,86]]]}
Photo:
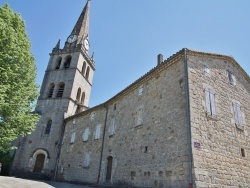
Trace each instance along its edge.
{"label": "full-height dark drainpipe at the building's corner between two walls", "polygon": [[191,143],[191,121],[190,121],[190,102],[189,102],[189,83],[188,83],[188,66],[187,66],[187,49],[184,48],[184,72],[185,72],[185,98],[187,114],[187,136],[188,136],[188,161],[189,161],[189,188],[193,187],[192,174],[192,143]]}

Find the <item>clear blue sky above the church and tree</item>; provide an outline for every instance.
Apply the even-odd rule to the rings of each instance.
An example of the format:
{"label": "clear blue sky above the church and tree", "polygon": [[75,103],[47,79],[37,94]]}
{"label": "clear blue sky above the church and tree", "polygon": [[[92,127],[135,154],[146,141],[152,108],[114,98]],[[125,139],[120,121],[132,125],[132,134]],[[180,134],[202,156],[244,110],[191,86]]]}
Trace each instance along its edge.
{"label": "clear blue sky above the church and tree", "polygon": [[[49,53],[70,35],[87,0],[0,0],[22,15],[41,85]],[[89,106],[112,98],[182,48],[233,56],[250,75],[249,0],[91,0]]]}

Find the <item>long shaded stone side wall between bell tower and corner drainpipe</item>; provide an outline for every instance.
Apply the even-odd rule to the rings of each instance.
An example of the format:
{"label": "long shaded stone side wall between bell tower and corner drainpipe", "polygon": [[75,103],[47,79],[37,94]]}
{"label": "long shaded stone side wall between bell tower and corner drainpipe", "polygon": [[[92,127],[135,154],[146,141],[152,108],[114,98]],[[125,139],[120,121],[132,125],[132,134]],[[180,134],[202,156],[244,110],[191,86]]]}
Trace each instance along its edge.
{"label": "long shaded stone side wall between bell tower and corner drainpipe", "polygon": [[[109,182],[107,163],[112,157],[110,182],[125,180],[142,187],[188,185],[184,87],[184,64],[179,57],[160,65],[105,103],[108,114],[102,183]],[[101,105],[66,120],[58,179],[96,183],[105,114]],[[100,139],[94,138],[97,125],[101,125]],[[114,132],[110,133],[112,125]],[[89,139],[83,141],[87,127]],[[76,132],[74,143],[70,143],[72,132]],[[90,154],[88,167],[84,167],[86,153]]]}

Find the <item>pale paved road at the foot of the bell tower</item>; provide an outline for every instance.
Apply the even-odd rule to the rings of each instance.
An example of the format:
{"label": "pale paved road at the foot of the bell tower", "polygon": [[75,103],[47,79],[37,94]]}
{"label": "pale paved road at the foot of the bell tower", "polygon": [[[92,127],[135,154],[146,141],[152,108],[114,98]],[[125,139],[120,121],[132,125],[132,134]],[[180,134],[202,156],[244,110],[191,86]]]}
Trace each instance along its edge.
{"label": "pale paved road at the foot of the bell tower", "polygon": [[83,185],[53,181],[35,181],[14,177],[0,176],[0,188],[89,188]]}

